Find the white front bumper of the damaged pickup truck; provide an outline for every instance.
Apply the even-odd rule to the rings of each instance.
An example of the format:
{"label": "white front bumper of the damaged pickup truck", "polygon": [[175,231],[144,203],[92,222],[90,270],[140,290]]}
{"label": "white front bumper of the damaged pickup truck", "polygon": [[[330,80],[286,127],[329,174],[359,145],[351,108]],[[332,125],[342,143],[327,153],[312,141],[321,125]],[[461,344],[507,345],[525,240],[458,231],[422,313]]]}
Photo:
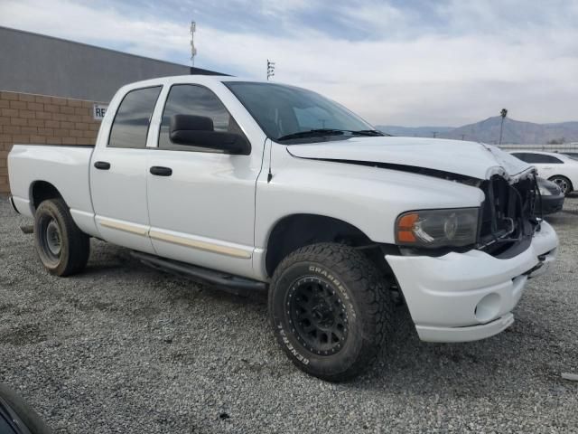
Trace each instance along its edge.
{"label": "white front bumper of the damaged pickup truck", "polygon": [[509,259],[480,250],[437,258],[387,255],[386,259],[420,339],[465,342],[496,335],[513,323],[511,310],[522,297],[527,279],[545,274],[557,246],[554,229],[542,222],[527,250]]}

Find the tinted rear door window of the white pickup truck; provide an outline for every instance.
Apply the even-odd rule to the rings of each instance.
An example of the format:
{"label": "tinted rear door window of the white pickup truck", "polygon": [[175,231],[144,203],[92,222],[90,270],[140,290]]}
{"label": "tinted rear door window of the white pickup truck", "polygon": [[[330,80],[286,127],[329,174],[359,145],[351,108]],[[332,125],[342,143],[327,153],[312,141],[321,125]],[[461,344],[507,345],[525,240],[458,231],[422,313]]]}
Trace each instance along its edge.
{"label": "tinted rear door window of the white pickup truck", "polygon": [[110,128],[108,147],[144,149],[151,114],[161,86],[131,90],[125,95]]}

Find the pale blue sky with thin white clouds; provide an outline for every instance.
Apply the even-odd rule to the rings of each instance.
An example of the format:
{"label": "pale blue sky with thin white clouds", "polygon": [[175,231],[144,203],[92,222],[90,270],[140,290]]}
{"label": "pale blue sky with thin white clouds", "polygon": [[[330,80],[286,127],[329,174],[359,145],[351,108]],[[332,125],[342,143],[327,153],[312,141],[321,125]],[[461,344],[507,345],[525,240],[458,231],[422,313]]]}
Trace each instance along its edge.
{"label": "pale blue sky with thin white clouds", "polygon": [[578,120],[575,0],[0,0],[0,25],[318,91],[374,125]]}

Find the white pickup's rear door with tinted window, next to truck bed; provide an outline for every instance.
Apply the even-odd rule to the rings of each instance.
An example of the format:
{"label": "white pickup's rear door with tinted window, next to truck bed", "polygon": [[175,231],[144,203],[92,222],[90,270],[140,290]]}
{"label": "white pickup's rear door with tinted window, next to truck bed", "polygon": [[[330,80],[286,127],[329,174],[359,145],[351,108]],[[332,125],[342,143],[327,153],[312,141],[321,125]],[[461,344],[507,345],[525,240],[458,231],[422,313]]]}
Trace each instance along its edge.
{"label": "white pickup's rear door with tinted window, next to truck bed", "polygon": [[97,146],[90,165],[90,189],[102,238],[153,253],[147,196],[146,140],[162,86],[130,90],[110,127],[106,146]]}

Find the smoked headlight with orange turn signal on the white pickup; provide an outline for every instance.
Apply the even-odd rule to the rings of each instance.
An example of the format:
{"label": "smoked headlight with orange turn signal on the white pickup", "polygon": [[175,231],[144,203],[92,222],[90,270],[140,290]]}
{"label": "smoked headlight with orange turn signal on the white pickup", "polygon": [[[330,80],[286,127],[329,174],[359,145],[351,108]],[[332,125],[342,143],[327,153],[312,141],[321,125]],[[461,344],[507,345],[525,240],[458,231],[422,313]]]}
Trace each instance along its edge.
{"label": "smoked headlight with orange turn signal on the white pickup", "polygon": [[436,248],[467,246],[478,238],[479,208],[404,212],[396,221],[396,244]]}

